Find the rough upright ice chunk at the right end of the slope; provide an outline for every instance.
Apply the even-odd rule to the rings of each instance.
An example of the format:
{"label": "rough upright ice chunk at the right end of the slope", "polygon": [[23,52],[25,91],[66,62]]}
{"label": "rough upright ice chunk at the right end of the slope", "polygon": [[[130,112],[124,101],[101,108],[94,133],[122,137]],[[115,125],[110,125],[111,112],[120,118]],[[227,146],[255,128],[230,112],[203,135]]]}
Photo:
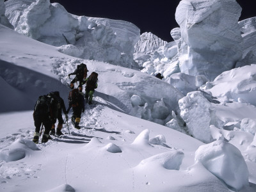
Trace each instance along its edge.
{"label": "rough upright ice chunk at the right end of the slope", "polygon": [[202,92],[190,92],[179,100],[180,116],[186,122],[188,132],[194,138],[209,143],[212,141],[210,124],[211,103],[205,99]]}

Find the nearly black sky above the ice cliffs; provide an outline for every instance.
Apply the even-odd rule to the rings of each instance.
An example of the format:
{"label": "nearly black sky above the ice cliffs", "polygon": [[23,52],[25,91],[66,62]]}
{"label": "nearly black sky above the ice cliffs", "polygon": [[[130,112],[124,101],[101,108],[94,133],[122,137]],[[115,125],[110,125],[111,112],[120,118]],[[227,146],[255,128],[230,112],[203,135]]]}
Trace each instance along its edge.
{"label": "nearly black sky above the ice cliffs", "polygon": [[[88,17],[126,20],[132,22],[141,33],[151,32],[167,42],[172,41],[170,31],[179,27],[175,10],[180,0],[51,0],[60,3],[69,13]],[[256,17],[255,0],[237,0],[243,8],[240,20]]]}

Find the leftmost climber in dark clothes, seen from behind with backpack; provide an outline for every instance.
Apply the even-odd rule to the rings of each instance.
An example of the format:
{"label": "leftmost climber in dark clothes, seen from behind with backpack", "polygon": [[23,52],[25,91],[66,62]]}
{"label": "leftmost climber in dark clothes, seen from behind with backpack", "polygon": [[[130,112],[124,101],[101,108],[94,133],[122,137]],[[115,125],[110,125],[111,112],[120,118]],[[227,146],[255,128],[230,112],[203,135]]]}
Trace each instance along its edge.
{"label": "leftmost climber in dark clothes, seen from behind with backpack", "polygon": [[51,130],[52,122],[56,121],[58,117],[58,100],[51,95],[41,95],[36,101],[33,118],[35,124],[35,134],[33,141],[38,143],[40,137],[40,127],[44,125],[44,135],[42,137],[42,143],[46,143],[51,140],[49,132]]}

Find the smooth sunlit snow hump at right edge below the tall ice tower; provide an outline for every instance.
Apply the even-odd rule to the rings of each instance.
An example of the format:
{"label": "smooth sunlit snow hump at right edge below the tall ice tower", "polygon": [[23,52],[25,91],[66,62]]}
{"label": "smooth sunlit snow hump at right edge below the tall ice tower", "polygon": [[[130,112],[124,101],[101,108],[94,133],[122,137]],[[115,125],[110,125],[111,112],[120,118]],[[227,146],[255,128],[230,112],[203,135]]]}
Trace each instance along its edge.
{"label": "smooth sunlit snow hump at right edge below the tall ice tower", "polygon": [[207,83],[204,90],[209,90],[214,97],[227,97],[256,105],[256,65],[223,72],[214,81]]}

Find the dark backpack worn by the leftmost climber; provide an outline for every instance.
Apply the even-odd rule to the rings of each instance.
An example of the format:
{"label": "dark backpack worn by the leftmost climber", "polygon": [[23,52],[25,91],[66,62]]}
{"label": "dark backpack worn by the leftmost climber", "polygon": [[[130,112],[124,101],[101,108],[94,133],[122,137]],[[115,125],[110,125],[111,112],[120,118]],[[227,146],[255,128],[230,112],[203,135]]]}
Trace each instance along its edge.
{"label": "dark backpack worn by the leftmost climber", "polygon": [[35,104],[34,111],[40,116],[48,116],[50,114],[50,100],[47,95],[41,95]]}

